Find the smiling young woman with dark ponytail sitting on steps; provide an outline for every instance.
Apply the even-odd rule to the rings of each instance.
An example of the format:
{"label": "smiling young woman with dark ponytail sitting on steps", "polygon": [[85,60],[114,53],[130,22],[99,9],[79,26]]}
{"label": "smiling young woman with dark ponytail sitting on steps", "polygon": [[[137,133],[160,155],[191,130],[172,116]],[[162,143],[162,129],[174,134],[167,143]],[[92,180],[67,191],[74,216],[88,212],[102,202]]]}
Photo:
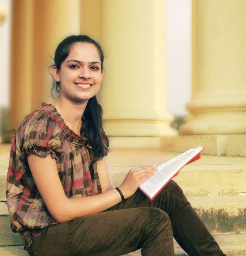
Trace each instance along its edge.
{"label": "smiling young woman with dark ponytail sitting on steps", "polygon": [[189,255],[225,255],[171,181],[150,201],[138,189],[155,166],[133,168],[113,188],[109,140],[97,103],[103,52],[86,35],[65,38],[51,65],[52,104],[17,129],[7,174],[11,229],[29,255],[174,255],[173,236]]}

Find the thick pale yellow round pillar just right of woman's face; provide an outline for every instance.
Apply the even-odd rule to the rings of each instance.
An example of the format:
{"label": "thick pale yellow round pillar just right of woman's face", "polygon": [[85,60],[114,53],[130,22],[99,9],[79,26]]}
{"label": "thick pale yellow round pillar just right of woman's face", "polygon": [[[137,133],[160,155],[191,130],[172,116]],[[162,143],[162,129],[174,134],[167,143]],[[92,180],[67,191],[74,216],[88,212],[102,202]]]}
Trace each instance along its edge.
{"label": "thick pale yellow round pillar just right of woman's face", "polygon": [[164,8],[163,0],[103,1],[100,101],[109,136],[177,135],[166,111]]}

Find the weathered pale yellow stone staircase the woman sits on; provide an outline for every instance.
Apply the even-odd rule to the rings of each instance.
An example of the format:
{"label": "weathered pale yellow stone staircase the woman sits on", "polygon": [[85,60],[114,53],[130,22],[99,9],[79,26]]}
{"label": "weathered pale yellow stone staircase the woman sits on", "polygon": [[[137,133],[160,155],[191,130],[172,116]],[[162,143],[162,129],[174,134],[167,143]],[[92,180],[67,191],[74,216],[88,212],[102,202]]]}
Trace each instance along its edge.
{"label": "weathered pale yellow stone staircase the woman sits on", "polygon": [[[11,232],[6,204],[10,145],[0,145],[0,256],[28,255],[18,234]],[[158,149],[113,149],[107,157],[112,185],[131,168],[160,164],[178,153]],[[184,166],[174,180],[229,256],[246,256],[246,158],[205,156]],[[186,255],[174,241],[175,254]],[[126,254],[140,256],[140,250]]]}

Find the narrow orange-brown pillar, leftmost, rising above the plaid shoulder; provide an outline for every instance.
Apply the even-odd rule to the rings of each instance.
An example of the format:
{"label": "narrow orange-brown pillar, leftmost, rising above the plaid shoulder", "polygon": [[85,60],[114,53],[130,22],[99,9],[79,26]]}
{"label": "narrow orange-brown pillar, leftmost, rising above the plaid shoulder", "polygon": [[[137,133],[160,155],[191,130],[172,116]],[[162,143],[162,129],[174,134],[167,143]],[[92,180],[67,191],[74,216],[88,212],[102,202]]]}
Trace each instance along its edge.
{"label": "narrow orange-brown pillar, leftmost, rising above the plaid shoulder", "polygon": [[4,142],[11,142],[31,111],[33,1],[13,0],[10,51],[10,123]]}

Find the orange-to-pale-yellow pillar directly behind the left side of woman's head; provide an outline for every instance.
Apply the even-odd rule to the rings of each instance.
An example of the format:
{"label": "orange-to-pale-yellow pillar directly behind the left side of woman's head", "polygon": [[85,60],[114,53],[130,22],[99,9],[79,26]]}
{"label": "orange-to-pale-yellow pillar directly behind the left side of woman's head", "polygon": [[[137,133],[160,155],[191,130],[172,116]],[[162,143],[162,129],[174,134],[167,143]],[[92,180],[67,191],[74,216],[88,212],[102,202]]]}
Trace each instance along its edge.
{"label": "orange-to-pale-yellow pillar directly behind the left side of woman's head", "polygon": [[53,63],[51,57],[54,58],[58,43],[69,35],[79,34],[79,2],[79,0],[34,1],[33,109],[41,107],[42,101],[52,101],[48,66]]}

